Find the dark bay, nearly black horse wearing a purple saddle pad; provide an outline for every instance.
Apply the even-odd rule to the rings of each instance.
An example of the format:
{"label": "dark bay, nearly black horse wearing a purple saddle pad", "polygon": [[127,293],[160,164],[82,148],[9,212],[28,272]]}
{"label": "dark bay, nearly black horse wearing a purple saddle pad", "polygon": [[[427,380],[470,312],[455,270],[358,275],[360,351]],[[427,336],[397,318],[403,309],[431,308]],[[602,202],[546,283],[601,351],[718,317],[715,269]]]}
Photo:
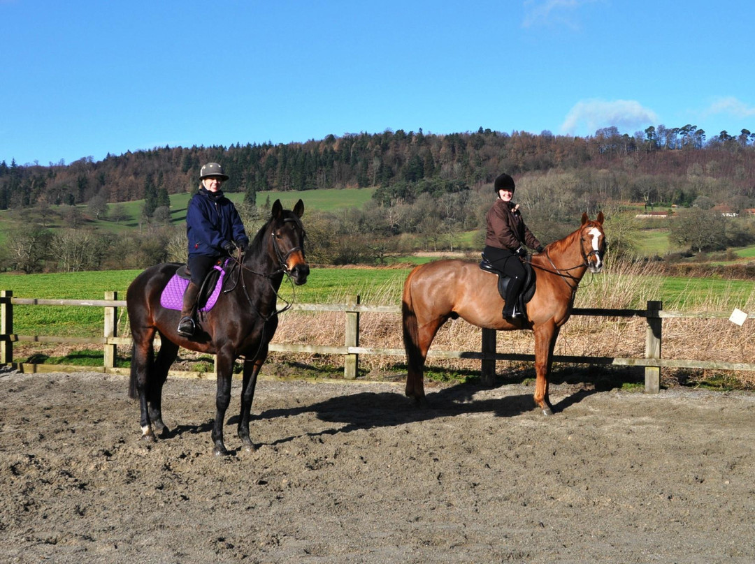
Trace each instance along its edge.
{"label": "dark bay, nearly black horse wearing a purple saddle pad", "polygon": [[[249,244],[243,259],[226,275],[217,304],[199,314],[193,337],[177,333],[180,311],[160,305],[162,290],[178,265],[147,268],[128,287],[126,306],[134,339],[128,394],[139,399],[144,440],[154,441],[156,434],[167,431],[162,422],[162,386],[178,348],[183,347],[217,354],[217,410],[211,434],[216,455],[229,454],[223,443],[223,420],[230,403],[233,364],[236,358],[244,357],[239,438],[244,449],[254,450],[249,438],[249,413],[257,374],[278,327],[278,290],[284,275],[294,284],[304,284],[310,274],[304,258],[303,213],[301,200],[293,211],[284,210],[276,200],[272,216]],[[155,357],[153,339],[157,333],[161,345]]]}

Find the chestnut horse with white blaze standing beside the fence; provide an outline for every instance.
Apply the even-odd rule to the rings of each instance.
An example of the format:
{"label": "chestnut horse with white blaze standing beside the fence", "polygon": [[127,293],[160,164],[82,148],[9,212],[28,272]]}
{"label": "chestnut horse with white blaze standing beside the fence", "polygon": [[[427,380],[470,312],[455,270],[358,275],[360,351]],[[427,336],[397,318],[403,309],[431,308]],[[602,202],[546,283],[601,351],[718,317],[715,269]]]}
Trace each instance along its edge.
{"label": "chestnut horse with white blaze standing beside the fence", "polygon": [[460,259],[428,262],[412,270],[404,284],[402,321],[408,364],[406,395],[425,402],[424,364],[438,330],[448,319],[461,317],[473,325],[503,331],[535,333],[535,403],[552,415],[548,375],[561,326],[569,320],[575,292],[584,273],[602,270],[606,252],[603,213],[590,220],[582,215],[580,228],[532,256],[535,295],[522,319],[501,317],[504,300],[498,277],[475,262]]}

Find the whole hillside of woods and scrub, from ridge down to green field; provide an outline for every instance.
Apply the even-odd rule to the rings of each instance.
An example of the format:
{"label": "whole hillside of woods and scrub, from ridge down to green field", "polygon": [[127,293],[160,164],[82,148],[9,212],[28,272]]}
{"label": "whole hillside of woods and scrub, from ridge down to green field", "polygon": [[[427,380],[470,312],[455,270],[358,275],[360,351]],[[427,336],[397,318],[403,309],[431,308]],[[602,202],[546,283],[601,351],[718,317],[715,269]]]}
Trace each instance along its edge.
{"label": "whole hillside of woods and scrub, from ridge down to green field", "polygon": [[[741,219],[755,208],[749,130],[710,140],[691,125],[633,136],[609,127],[585,138],[387,130],[287,145],[165,147],[46,167],[0,162],[0,211],[11,220],[0,228],[0,241],[7,241],[0,269],[143,268],[185,259],[185,227],[171,196],[194,192],[209,161],[230,175],[223,190],[238,195],[249,231],[265,213],[269,195],[257,202],[260,192],[374,189],[359,209],[307,208],[308,256],[320,264],[382,264],[414,250],[481,248],[492,181],[503,171],[516,179],[516,201],[544,242],[572,231],[583,211],[603,210],[612,254],[631,253],[636,230],[649,231],[636,212],[663,210],[671,218],[663,237],[676,250],[755,243],[755,222]],[[140,212],[125,213],[123,203],[134,201]],[[111,228],[126,225],[129,231]],[[668,253],[668,244],[654,252]]]}

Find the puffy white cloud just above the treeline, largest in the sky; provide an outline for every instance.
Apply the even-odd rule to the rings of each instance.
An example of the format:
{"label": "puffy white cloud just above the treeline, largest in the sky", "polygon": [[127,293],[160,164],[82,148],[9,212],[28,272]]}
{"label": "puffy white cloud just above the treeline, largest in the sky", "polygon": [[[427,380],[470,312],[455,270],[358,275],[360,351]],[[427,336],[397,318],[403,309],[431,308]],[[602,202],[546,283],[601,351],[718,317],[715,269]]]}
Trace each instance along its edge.
{"label": "puffy white cloud just above the treeline, largest in the sky", "polygon": [[658,115],[636,100],[581,100],[569,110],[561,132],[592,135],[602,127],[618,127],[624,133],[658,123]]}

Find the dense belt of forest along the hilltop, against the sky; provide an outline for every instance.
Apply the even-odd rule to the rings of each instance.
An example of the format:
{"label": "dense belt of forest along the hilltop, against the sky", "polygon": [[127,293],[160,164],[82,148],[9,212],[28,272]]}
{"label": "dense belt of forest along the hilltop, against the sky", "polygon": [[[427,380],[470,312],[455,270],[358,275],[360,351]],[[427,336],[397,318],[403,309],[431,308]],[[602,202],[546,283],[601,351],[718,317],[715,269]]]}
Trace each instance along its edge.
{"label": "dense belt of forest along the hilltop, against the sky", "polygon": [[[551,170],[577,174],[578,194],[620,201],[689,205],[699,195],[714,203],[749,207],[755,195],[755,133],[726,131],[705,140],[697,127],[649,127],[630,136],[616,127],[594,136],[500,133],[424,134],[403,130],[329,135],[287,145],[165,147],[82,158],[71,164],[19,165],[0,162],[0,210],[46,204],[84,204],[190,192],[199,167],[223,164],[228,192],[310,190],[413,184],[442,179],[474,186],[498,173],[513,176]],[[390,192],[382,195],[390,203]]]}

